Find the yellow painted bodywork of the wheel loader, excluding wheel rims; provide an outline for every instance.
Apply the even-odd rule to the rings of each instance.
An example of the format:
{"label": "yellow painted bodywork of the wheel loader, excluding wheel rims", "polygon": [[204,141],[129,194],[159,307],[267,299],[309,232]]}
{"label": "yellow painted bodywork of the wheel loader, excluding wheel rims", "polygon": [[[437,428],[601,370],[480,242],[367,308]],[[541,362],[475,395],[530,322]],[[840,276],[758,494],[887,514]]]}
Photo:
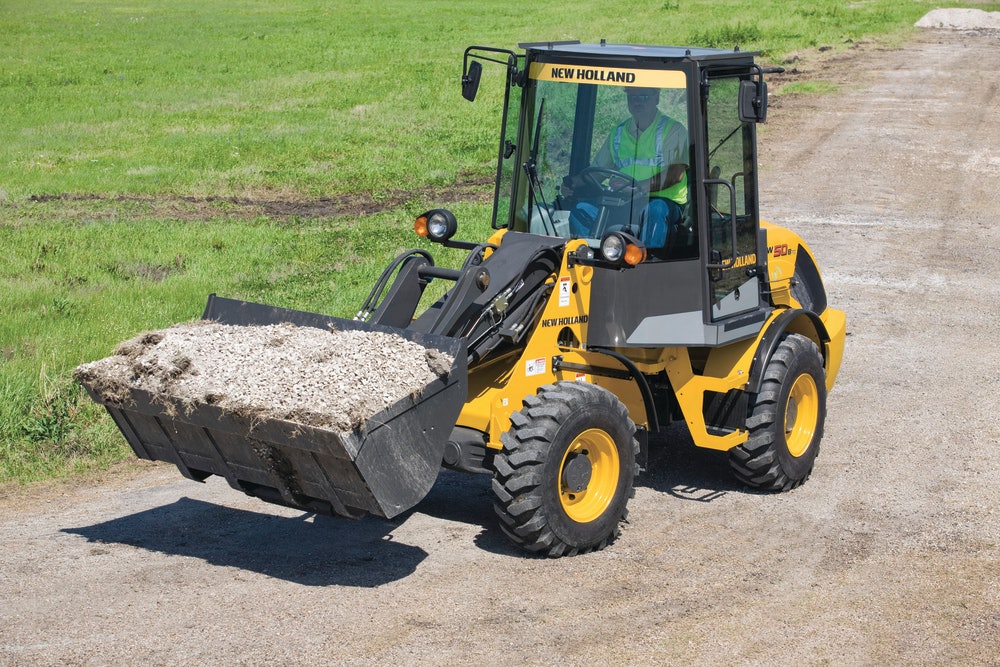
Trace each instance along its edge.
{"label": "yellow painted bodywork of the wheel loader, excluding wheel rims", "polygon": [[[704,417],[706,392],[725,394],[733,389],[745,389],[754,354],[768,326],[786,308],[799,307],[790,290],[795,257],[794,253],[788,254],[787,251],[789,248],[809,251],[794,233],[766,223],[765,226],[768,229],[768,268],[776,308],[757,337],[717,348],[698,348],[696,351],[685,347],[615,350],[628,357],[645,375],[666,372],[694,443],[699,447],[725,451],[747,440],[745,429],[724,435],[708,432]],[[499,243],[503,234],[503,230],[494,234],[490,243]],[[470,370],[468,400],[457,424],[486,433],[487,446],[492,449],[502,449],[500,436],[510,429],[510,416],[522,408],[522,400],[535,395],[539,387],[560,380],[591,382],[604,387],[622,401],[637,426],[648,428],[652,421],[634,380],[575,370],[554,370],[557,357],[567,364],[626,370],[613,357],[586,349],[594,269],[582,264],[571,266],[568,262],[570,252],[584,244],[580,240],[568,243],[559,272],[551,279],[551,295],[523,350],[491,359]],[[819,346],[826,360],[826,383],[830,389],[843,356],[845,317],[842,311],[828,308],[820,318],[829,334],[828,340],[816,331],[812,320],[805,315],[794,320],[788,330],[807,336]]]}

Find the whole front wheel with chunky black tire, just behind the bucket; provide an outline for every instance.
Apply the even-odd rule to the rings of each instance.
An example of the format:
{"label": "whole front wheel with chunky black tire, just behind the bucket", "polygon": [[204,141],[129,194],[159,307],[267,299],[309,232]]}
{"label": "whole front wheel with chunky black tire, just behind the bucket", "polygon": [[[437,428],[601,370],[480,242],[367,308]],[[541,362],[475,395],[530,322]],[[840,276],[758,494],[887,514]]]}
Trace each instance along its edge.
{"label": "whole front wheel with chunky black tire, just behind the bucket", "polygon": [[494,508],[515,544],[571,556],[618,536],[639,473],[639,443],[614,394],[582,382],[541,387],[511,415],[501,441]]}

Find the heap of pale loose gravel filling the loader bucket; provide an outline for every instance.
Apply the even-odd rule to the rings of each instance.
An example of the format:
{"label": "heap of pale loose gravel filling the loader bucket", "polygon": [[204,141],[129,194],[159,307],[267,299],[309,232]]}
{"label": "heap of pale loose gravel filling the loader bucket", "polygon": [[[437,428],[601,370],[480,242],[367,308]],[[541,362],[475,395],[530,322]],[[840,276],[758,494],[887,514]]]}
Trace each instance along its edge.
{"label": "heap of pale loose gravel filling the loader bucket", "polygon": [[215,405],[255,420],[346,431],[418,395],[452,361],[381,332],[199,321],[137,336],[74,375],[114,405],[129,405],[142,390],[168,414]]}

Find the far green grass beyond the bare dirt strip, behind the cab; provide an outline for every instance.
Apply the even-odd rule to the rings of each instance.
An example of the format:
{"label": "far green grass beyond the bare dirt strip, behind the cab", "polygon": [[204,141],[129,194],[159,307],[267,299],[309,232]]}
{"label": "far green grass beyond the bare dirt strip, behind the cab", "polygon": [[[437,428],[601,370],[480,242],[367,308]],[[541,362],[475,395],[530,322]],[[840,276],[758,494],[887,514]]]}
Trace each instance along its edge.
{"label": "far green grass beyond the bare dirt strip, behind the cab", "polygon": [[469,44],[579,38],[763,51],[906,33],[929,2],[33,0],[0,3],[0,200],[316,196],[488,175],[496,95]]}

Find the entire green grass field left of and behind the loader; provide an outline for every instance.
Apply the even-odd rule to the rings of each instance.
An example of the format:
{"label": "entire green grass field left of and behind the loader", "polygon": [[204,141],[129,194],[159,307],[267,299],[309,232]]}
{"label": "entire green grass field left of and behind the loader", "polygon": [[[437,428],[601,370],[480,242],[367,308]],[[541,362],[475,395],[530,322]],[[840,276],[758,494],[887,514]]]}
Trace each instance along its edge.
{"label": "entire green grass field left of and behind the loader", "polygon": [[[466,46],[738,44],[781,63],[904,39],[935,6],[0,0],[0,483],[124,456],[70,371],[210,292],[353,315],[433,193],[491,176],[499,86],[460,98]],[[238,204],[319,198],[387,210]],[[485,204],[454,208],[483,234]]]}

